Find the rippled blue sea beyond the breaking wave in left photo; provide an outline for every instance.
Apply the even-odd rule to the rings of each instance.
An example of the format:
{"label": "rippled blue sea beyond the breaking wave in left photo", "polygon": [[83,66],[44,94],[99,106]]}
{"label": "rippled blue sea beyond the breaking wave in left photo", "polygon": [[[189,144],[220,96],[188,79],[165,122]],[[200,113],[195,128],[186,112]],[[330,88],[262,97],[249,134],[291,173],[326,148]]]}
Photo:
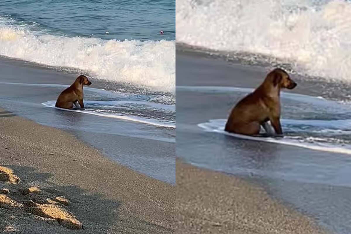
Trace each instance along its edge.
{"label": "rippled blue sea beyond the breaking wave in left photo", "polygon": [[52,33],[102,39],[175,40],[175,13],[174,0],[0,1],[0,16],[18,24],[36,22]]}

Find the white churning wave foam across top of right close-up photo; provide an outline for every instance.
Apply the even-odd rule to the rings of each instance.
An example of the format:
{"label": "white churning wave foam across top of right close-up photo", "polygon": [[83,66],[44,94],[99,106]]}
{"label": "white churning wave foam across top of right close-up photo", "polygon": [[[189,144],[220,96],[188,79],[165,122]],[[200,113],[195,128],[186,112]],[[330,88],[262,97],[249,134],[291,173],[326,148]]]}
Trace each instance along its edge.
{"label": "white churning wave foam across top of right close-up photo", "polygon": [[286,60],[300,74],[351,81],[351,2],[177,0],[176,41]]}

